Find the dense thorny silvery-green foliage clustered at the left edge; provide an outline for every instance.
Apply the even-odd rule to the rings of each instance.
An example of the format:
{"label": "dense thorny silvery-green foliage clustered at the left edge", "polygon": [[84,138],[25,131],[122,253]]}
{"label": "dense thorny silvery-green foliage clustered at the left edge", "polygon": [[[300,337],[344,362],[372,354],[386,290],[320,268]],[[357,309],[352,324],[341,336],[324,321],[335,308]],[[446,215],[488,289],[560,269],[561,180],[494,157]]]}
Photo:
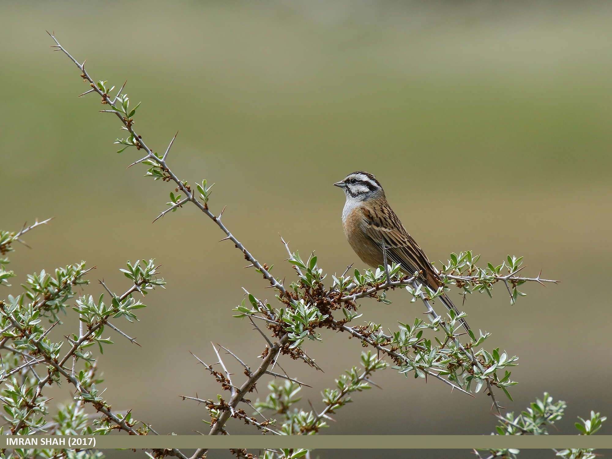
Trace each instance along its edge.
{"label": "dense thorny silvery-green foliage clustered at the left edge", "polygon": [[[20,236],[24,232],[2,231],[2,253],[11,252],[14,242],[23,242]],[[8,259],[2,259],[3,267],[7,263]],[[127,337],[114,323],[138,320],[135,311],[145,305],[134,295],[143,296],[155,287],[163,287],[165,282],[158,277],[154,260],[138,260],[128,262],[127,269],[121,270],[130,280],[125,293],[108,291],[108,302],[104,301],[104,295],[97,300],[91,295],[76,297],[75,289],[89,284],[86,275],[90,271],[81,261],[53,273],[30,274],[20,287],[12,288],[12,294],[0,299],[0,401],[6,421],[0,427],[0,435],[106,435],[118,426],[130,433],[147,433],[148,427],[144,424],[137,427],[139,423],[132,419],[130,412],[111,411],[103,397],[104,391],[99,388],[103,379],[97,368],[96,353],[103,353],[104,346],[113,343],[110,332]],[[3,273],[7,273],[4,268]],[[14,276],[11,272],[10,277]],[[67,315],[70,309],[78,314]],[[52,340],[48,335],[50,330],[65,327],[64,321],[71,317],[81,322],[81,326],[76,326],[78,333],[64,332],[65,340]],[[70,403],[51,409],[51,399],[45,396],[45,389],[54,384],[71,384],[75,395]],[[86,405],[92,406],[98,415],[86,414]],[[51,416],[51,411],[57,414]],[[6,458],[103,457],[95,450],[15,449],[0,453]]]}

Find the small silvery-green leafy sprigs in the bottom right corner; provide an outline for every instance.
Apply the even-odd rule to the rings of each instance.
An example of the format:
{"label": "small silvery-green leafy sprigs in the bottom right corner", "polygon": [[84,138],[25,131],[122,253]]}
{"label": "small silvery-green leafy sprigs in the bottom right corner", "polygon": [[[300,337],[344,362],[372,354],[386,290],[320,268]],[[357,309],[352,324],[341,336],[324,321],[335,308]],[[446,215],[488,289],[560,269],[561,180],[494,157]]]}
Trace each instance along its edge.
{"label": "small silvery-green leafy sprigs in the bottom right corner", "polygon": [[[496,435],[548,435],[547,427],[561,420],[567,405],[558,400],[553,403],[553,397],[544,392],[542,400],[537,398],[521,414],[515,416],[513,412],[507,412],[505,416],[498,416],[499,425],[496,427]],[[579,435],[593,435],[606,420],[599,412],[591,411],[590,419],[582,419],[574,425],[580,432]],[[502,459],[516,459],[520,450],[518,449],[492,449],[488,450],[490,456]],[[554,450],[558,457],[564,459],[595,459],[594,449],[563,449]]]}

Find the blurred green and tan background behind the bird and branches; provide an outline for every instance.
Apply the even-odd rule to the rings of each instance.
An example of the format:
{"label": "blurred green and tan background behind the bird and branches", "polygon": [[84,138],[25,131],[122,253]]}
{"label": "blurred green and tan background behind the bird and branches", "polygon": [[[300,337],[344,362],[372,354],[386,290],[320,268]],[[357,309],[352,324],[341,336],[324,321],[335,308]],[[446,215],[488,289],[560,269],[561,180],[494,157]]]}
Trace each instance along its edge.
{"label": "blurred green and tan background behind the bird and branches", "polygon": [[[263,340],[231,308],[241,286],[272,296],[195,208],[151,224],[174,187],[126,169],[138,153],[114,152],[118,121],[97,113],[97,97],[76,99],[88,86],[51,51],[48,29],[95,79],[128,80],[149,146],[163,151],[179,130],[173,171],[216,182],[211,208],[227,205],[228,228],[277,275],[291,276],[278,233],[293,250],[316,250],[326,271],[360,266],[331,184],[367,170],[431,259],[524,255],[526,274],[561,279],[526,285],[515,307],[497,288],[464,309],[493,333],[488,348],[520,357],[504,406],[518,411],[548,390],[569,404],[559,431],[574,433],[575,416],[612,414],[611,19],[604,2],[2,2],[1,226],[56,217],[28,234],[32,250],[12,254],[13,284],[85,259],[97,265],[92,280],[123,291],[125,260],[162,263],[168,289],[123,327],[143,347],[116,337],[100,367],[114,409],[182,434],[205,431],[206,412],[178,395],[219,391],[188,351],[212,362],[215,341],[255,364]],[[421,316],[393,298],[364,302],[364,318],[395,327]],[[303,390],[315,405],[361,351],[344,335],[323,338],[307,350],[325,373],[285,362],[315,387]],[[480,434],[496,424],[482,394],[394,370],[375,381],[384,389],[356,395],[324,433]],[[230,431],[255,433],[238,422]]]}

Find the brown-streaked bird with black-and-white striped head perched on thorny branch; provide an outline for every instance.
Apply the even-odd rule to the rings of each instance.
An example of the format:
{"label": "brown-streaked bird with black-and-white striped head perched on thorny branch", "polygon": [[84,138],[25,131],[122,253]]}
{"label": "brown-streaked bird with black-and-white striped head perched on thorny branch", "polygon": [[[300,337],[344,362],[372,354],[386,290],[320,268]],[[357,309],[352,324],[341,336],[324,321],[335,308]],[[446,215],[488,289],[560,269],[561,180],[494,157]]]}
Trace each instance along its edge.
{"label": "brown-streaked bird with black-and-white striped head perched on thorny branch", "polygon": [[[438,271],[389,206],[383,187],[375,176],[357,171],[334,185],[342,188],[346,195],[342,209],[346,239],[364,263],[373,268],[383,266],[384,250],[387,263],[394,261],[401,264],[406,274],[418,272],[419,280],[434,291],[442,286]],[[449,310],[459,315],[446,293],[440,299]],[[466,321],[463,318],[459,320],[469,332]]]}

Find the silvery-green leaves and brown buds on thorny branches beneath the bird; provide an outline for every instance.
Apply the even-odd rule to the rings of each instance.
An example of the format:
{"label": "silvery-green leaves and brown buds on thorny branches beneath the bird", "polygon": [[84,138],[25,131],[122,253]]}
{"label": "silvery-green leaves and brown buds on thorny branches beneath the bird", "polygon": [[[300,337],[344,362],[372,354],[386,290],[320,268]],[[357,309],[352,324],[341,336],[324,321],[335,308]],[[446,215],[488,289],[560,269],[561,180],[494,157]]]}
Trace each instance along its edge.
{"label": "silvery-green leaves and brown buds on thorny branches beneath the bird", "polygon": [[[332,284],[326,286],[327,275],[318,266],[316,256],[311,255],[304,261],[299,252],[290,253],[289,263],[299,278],[290,285],[291,300],[277,295],[280,307],[275,308],[248,294],[248,303],[245,299],[235,309],[236,317],[264,319],[275,337],[288,334],[292,343],[289,348],[301,345],[306,338],[321,341],[318,332],[321,328],[352,331],[361,338],[364,346],[386,353],[395,363],[394,368],[405,376],[412,374],[414,378],[426,378],[430,375],[438,379],[446,376],[444,381],[447,384],[464,392],[480,392],[483,387],[490,391],[489,386],[495,386],[512,400],[508,388],[517,383],[510,379],[509,368],[517,365],[518,357],[509,356],[499,348],[491,351],[479,348],[489,333],[479,332],[476,337],[470,330],[469,339],[461,343],[459,319],[465,317],[465,313],[455,315],[451,311],[446,318],[430,314],[427,320],[415,318],[411,324],[399,323],[396,330],[384,330],[381,324],[367,321],[365,325],[348,329],[346,324],[362,317],[357,313],[357,299],[370,297],[390,302],[385,294],[389,287],[384,268],[364,272],[356,269],[352,277],[333,275]],[[414,288],[411,285],[414,277],[401,272],[401,266],[395,263],[388,271],[391,288],[405,288],[411,302],[421,295],[426,295],[426,300],[430,301],[444,292],[442,288],[433,292],[420,284]],[[479,280],[471,282],[480,285]],[[341,313],[340,319],[334,318],[336,312]],[[429,335],[424,333],[427,330]]]}

